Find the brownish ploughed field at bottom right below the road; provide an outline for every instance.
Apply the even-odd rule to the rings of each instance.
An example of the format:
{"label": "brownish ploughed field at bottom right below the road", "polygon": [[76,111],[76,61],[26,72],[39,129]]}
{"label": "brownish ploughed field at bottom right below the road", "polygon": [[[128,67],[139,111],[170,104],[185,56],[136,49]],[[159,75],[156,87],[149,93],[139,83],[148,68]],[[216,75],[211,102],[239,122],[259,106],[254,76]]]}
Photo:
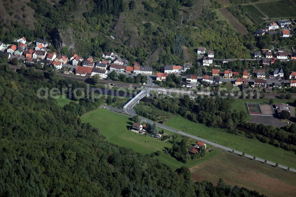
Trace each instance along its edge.
{"label": "brownish ploughed field at bottom right below the road", "polygon": [[216,184],[222,177],[227,184],[256,190],[267,196],[295,196],[296,192],[295,173],[232,153],[223,152],[190,170],[193,180],[209,180]]}

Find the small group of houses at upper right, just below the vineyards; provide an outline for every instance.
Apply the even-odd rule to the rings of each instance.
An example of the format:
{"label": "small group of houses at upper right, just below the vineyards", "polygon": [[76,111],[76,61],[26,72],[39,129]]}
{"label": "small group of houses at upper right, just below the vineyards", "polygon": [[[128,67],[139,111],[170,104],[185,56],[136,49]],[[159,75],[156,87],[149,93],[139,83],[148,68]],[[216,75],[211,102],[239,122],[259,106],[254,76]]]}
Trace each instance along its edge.
{"label": "small group of houses at upper right, just below the vineyards", "polygon": [[291,21],[290,20],[279,20],[276,22],[272,22],[270,24],[267,25],[267,28],[265,29],[260,29],[260,30],[256,30],[254,32],[255,35],[257,36],[262,36],[264,34],[269,34],[269,35],[276,35],[278,33],[278,31],[275,31],[277,29],[281,28],[281,37],[285,38],[285,37],[290,37],[292,36],[290,30],[290,25],[291,25]]}

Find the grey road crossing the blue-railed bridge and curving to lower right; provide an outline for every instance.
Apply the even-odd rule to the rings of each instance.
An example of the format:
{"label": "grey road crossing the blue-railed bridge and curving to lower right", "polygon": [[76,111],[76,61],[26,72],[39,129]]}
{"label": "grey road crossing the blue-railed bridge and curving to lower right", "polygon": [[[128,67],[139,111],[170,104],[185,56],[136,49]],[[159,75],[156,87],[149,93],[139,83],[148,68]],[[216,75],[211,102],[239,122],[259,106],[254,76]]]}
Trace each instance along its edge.
{"label": "grey road crossing the blue-railed bridge and curving to lower right", "polygon": [[[131,115],[131,116],[135,116],[135,115],[137,115],[137,114],[134,112],[133,107],[134,107],[134,106],[135,106],[135,105],[136,105],[136,104],[137,104],[142,98],[144,98],[144,97],[149,93],[149,91],[150,91],[150,90],[152,89],[152,87],[153,87],[152,84],[153,84],[153,83],[152,83],[152,79],[151,79],[151,77],[148,77],[147,87],[146,87],[144,90],[142,90],[141,92],[139,92],[136,96],[134,96],[131,100],[129,100],[129,101],[125,104],[125,106],[123,106],[123,112],[125,112],[125,113],[127,113],[127,114],[129,114],[129,115]],[[169,130],[169,131],[171,131],[171,132],[178,133],[178,134],[180,134],[180,135],[184,135],[184,136],[187,136],[187,137],[193,138],[193,139],[195,139],[195,140],[198,140],[198,141],[202,141],[202,142],[208,143],[208,144],[210,144],[210,145],[212,145],[212,146],[215,146],[215,147],[218,147],[218,148],[222,148],[222,149],[225,149],[225,150],[227,150],[227,151],[234,151],[234,153],[236,153],[236,154],[240,154],[240,155],[243,154],[242,152],[237,151],[237,150],[234,150],[233,148],[229,148],[229,147],[223,146],[223,145],[221,145],[221,144],[217,144],[217,143],[214,143],[214,142],[211,142],[211,141],[205,140],[205,139],[200,138],[200,137],[197,137],[197,136],[195,136],[195,135],[191,135],[191,134],[188,134],[188,133],[184,133],[184,132],[182,132],[182,131],[179,131],[179,130],[176,130],[176,129],[174,129],[174,128],[171,128],[171,127],[168,127],[168,126],[165,126],[165,125],[159,124],[159,123],[157,123],[157,122],[154,122],[154,121],[152,121],[152,120],[149,120],[149,119],[144,118],[144,117],[141,117],[141,116],[139,116],[139,117],[140,117],[140,119],[141,119],[142,121],[149,122],[149,123],[151,123],[151,124],[156,123],[157,126],[160,127],[160,128],[162,128],[162,129],[166,129],[166,130]],[[246,157],[248,157],[248,158],[250,158],[250,159],[253,159],[253,157],[254,157],[254,156],[249,155],[249,154],[246,154],[246,153],[244,154],[244,156],[246,156]],[[258,161],[260,161],[260,162],[264,162],[264,161],[265,161],[265,159],[261,159],[261,158],[258,158],[258,157],[256,157],[255,160],[258,160]],[[271,164],[271,165],[273,165],[273,166],[276,165],[276,163],[271,162],[271,161],[267,161],[267,163],[268,163],[268,164]],[[287,166],[284,166],[284,165],[281,165],[281,164],[279,164],[279,167],[280,167],[280,168],[283,168],[283,169],[288,169]],[[292,171],[292,172],[296,172],[296,169],[290,168],[290,171]]]}

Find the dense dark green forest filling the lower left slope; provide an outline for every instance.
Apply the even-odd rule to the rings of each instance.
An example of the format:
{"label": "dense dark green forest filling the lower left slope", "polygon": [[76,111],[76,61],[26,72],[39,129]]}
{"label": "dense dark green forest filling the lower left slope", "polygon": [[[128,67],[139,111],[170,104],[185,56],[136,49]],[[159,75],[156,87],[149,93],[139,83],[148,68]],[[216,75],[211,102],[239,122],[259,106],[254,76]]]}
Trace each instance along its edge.
{"label": "dense dark green forest filling the lower left slope", "polygon": [[[194,183],[186,167],[173,172],[149,155],[105,142],[73,113],[75,102],[61,108],[36,94],[40,87],[84,83],[55,76],[31,82],[9,70],[0,64],[0,196],[262,196],[223,180]],[[76,108],[97,107],[88,100]]]}

